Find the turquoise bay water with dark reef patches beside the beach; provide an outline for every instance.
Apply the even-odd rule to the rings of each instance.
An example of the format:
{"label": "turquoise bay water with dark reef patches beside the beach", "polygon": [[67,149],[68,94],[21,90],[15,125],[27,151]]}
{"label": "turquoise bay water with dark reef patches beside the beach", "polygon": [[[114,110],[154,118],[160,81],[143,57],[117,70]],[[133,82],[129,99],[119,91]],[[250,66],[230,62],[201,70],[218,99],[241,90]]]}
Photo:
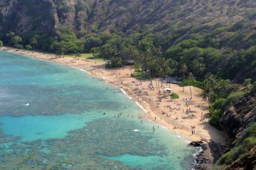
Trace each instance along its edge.
{"label": "turquoise bay water with dark reef patches beside the beach", "polygon": [[191,169],[197,149],[143,114],[102,79],[0,50],[0,169]]}

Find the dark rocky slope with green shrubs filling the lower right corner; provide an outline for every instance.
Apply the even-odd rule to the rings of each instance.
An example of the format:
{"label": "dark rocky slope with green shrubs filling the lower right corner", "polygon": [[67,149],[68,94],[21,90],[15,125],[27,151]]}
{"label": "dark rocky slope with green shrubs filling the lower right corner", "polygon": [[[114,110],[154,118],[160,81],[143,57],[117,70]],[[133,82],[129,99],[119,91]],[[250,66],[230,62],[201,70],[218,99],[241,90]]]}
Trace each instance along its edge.
{"label": "dark rocky slope with green shrubs filling the lower right corner", "polygon": [[226,109],[220,126],[234,142],[215,169],[256,169],[256,83],[249,93]]}

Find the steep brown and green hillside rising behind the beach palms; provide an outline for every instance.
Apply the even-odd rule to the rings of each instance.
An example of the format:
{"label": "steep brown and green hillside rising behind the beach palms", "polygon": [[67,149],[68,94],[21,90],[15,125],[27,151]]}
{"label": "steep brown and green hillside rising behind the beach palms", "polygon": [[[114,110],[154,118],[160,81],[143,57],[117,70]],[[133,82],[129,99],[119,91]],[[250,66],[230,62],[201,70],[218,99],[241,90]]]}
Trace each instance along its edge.
{"label": "steep brown and green hillside rising behind the beach palms", "polygon": [[[165,58],[202,62],[224,79],[256,79],[254,0],[0,0],[0,39],[65,53],[160,46]],[[203,73],[202,75],[203,76]]]}

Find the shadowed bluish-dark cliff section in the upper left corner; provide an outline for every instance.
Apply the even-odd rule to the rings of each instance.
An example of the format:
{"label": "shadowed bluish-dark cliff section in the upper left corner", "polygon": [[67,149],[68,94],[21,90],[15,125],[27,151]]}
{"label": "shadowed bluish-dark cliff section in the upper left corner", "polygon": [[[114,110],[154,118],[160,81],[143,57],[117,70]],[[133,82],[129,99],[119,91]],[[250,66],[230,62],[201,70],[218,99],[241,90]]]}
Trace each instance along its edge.
{"label": "shadowed bluish-dark cliff section in the upper left corner", "polygon": [[53,32],[53,3],[51,0],[0,0],[0,32],[18,34]]}

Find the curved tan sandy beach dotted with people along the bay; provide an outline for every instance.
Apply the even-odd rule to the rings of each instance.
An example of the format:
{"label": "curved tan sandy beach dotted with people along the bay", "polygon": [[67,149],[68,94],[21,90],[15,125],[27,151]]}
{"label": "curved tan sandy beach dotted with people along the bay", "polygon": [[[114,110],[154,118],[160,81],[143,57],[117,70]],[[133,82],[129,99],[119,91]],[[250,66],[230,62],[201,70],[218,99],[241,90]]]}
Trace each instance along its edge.
{"label": "curved tan sandy beach dotted with people along the bay", "polygon": [[[207,102],[201,99],[201,89],[198,89],[197,87],[191,87],[193,99],[183,102],[182,99],[187,99],[190,97],[188,87],[185,87],[185,91],[182,92],[183,87],[179,87],[179,85],[168,84],[172,91],[177,93],[180,98],[170,99],[168,97],[163,97],[157,93],[158,90],[156,89],[156,79],[152,80],[154,88],[153,90],[150,90],[147,88],[148,84],[150,84],[150,80],[143,80],[141,81],[142,84],[140,85],[139,80],[130,76],[131,71],[129,67],[119,69],[105,69],[104,62],[102,61],[96,61],[95,63],[94,60],[88,60],[85,58],[80,58],[79,60],[71,57],[55,58],[55,55],[53,54],[16,50],[9,47],[3,47],[0,48],[0,50],[23,54],[40,60],[55,62],[61,65],[79,69],[90,74],[91,76],[100,77],[100,79],[103,79],[106,81],[106,83],[110,83],[119,87],[119,89],[127,97],[129,97],[129,99],[134,101],[138,107],[143,110],[143,112],[146,112],[146,114],[143,115],[143,118],[149,119],[155,124],[167,128],[171,132],[177,134],[179,138],[182,136],[184,139],[189,141],[197,141],[201,140],[201,138],[205,138],[207,140],[214,140],[222,144],[227,144],[228,142],[228,137],[222,131],[216,130],[207,122],[208,119],[204,116],[208,112]],[[168,86],[166,84],[164,85],[166,87]],[[160,87],[161,91],[164,90],[164,85],[163,87]],[[170,108],[177,108],[177,110],[170,110],[168,107],[169,105]],[[188,109],[191,109],[191,113],[194,116],[191,117],[191,115],[184,115],[184,110]],[[168,116],[168,114],[171,116]],[[199,121],[199,118],[202,118],[202,115],[204,121]],[[190,126],[196,127],[195,134],[191,134]],[[207,155],[207,157],[212,157],[212,155]]]}

